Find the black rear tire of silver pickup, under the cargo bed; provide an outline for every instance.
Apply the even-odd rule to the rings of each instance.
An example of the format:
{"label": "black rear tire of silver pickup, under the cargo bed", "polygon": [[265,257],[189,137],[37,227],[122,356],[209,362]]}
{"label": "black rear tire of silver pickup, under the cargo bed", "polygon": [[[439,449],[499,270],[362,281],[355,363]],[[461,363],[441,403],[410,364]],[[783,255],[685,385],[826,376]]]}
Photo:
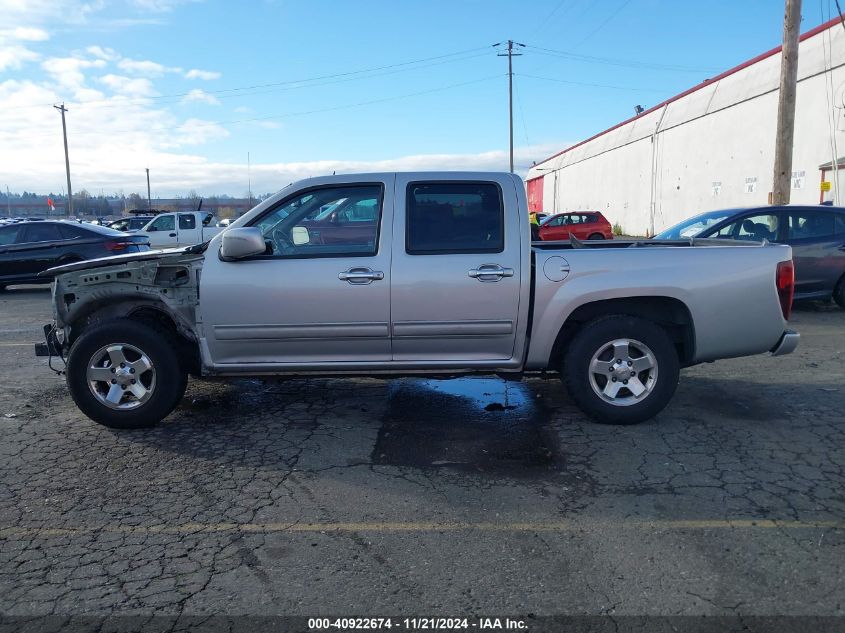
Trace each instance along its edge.
{"label": "black rear tire of silver pickup, under the cargo bed", "polygon": [[[627,348],[630,350],[629,356],[621,359],[612,356],[607,358],[605,355],[613,351],[608,346],[619,340],[632,341]],[[651,356],[641,356],[640,346],[645,346]],[[607,348],[605,355],[598,356],[596,362],[607,363],[608,369],[606,374],[595,373],[591,379],[591,363],[594,355],[602,351],[602,348]],[[617,363],[618,360],[623,362]],[[652,360],[654,370],[641,370],[635,373],[633,378],[628,373],[629,370],[634,372],[639,366],[647,365]],[[638,361],[639,365],[632,364]],[[679,373],[678,352],[662,327],[639,317],[611,315],[588,323],[575,335],[564,358],[562,378],[569,395],[591,418],[604,424],[637,424],[653,418],[669,404],[678,385]],[[619,378],[612,380],[611,376]],[[614,386],[608,387],[611,380]],[[638,401],[634,392],[624,386],[628,385],[628,380],[636,380],[637,388],[645,389],[641,400]],[[619,383],[623,381],[624,385],[620,386]],[[614,388],[618,389],[618,396],[613,398],[602,397],[595,391],[612,391]],[[606,397],[617,404],[611,404]]]}

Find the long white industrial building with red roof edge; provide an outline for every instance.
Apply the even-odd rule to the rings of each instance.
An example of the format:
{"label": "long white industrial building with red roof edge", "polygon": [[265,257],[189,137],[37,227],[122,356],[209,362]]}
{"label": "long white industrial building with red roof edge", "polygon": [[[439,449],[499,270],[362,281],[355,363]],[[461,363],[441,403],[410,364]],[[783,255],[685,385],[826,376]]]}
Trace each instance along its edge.
{"label": "long white industrial building with red roof edge", "polygon": [[[780,65],[778,47],[537,163],[529,208],[598,210],[653,235],[701,211],[767,204]],[[838,18],[801,36],[793,203],[845,199],[843,66]]]}

